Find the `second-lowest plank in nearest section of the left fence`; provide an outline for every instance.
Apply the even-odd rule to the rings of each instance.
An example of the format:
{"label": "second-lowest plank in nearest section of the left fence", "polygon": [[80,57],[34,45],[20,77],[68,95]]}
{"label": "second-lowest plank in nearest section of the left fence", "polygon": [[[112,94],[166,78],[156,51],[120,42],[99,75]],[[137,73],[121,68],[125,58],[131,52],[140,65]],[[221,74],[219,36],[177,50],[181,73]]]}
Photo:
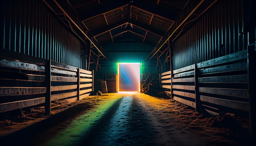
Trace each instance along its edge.
{"label": "second-lowest plank in nearest section of the left fence", "polygon": [[0,87],[0,96],[32,95],[46,93],[46,87]]}

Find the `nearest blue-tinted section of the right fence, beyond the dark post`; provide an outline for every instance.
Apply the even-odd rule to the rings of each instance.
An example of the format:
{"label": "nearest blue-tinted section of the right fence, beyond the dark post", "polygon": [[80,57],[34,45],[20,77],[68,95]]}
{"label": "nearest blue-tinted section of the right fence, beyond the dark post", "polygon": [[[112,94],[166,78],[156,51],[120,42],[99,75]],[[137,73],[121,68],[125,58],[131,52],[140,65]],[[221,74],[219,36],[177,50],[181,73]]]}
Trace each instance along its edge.
{"label": "nearest blue-tinted section of the right fence, beyond the dark post", "polygon": [[249,111],[247,50],[197,64],[202,105]]}

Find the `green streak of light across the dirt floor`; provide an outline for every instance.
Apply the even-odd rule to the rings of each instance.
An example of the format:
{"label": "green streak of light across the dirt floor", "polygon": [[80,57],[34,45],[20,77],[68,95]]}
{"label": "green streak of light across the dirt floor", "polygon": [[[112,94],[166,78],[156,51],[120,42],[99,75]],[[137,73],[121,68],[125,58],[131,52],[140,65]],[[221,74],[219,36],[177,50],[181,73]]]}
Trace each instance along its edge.
{"label": "green streak of light across the dirt floor", "polygon": [[106,115],[110,108],[113,108],[114,104],[119,103],[119,99],[121,99],[121,97],[116,97],[108,102],[97,104],[94,109],[74,119],[67,128],[49,137],[49,139],[42,142],[40,146],[80,145],[79,143],[84,139],[85,135],[91,131],[104,115]]}

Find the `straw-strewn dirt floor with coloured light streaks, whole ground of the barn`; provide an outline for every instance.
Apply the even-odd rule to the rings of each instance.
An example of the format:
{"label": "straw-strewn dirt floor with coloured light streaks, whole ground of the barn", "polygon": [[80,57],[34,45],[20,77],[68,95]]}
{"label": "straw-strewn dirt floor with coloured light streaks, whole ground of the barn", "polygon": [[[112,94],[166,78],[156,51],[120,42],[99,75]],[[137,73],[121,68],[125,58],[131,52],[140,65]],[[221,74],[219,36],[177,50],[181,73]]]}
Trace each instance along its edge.
{"label": "straw-strewn dirt floor with coloured light streaks, whole ground of the barn", "polygon": [[[70,134],[64,138],[63,133],[81,130],[74,130],[76,124],[73,121],[79,121],[79,124],[85,122],[83,127],[88,124],[91,128],[81,132],[87,133],[87,136],[83,136],[77,145],[252,145],[247,118],[232,113],[217,116],[199,113],[168,99],[164,93],[152,95],[106,93],[73,103],[56,101],[52,104],[51,115],[44,115],[43,106],[0,113],[0,140],[4,141],[3,145],[63,145],[59,140],[49,141],[49,137],[61,135],[61,139],[72,138],[70,143],[65,142],[64,145],[73,145],[74,137],[79,138],[81,134]],[[96,114],[95,117],[92,113]],[[31,129],[40,129],[38,133],[29,135],[29,130],[24,130],[37,124],[39,126]],[[46,125],[51,129],[45,128]],[[68,131],[70,126],[73,129]],[[63,133],[59,134],[60,131]],[[10,142],[10,137],[17,138],[19,142]]]}

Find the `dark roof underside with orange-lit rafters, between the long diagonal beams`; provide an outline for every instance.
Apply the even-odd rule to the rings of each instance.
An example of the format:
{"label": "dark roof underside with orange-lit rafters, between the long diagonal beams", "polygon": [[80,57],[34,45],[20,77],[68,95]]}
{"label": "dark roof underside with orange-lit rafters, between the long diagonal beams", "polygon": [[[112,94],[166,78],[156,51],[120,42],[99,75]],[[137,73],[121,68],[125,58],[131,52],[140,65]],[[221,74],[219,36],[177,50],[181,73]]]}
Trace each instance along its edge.
{"label": "dark roof underside with orange-lit rafters, between the long diagonal beams", "polygon": [[188,0],[67,1],[101,45],[129,38],[156,46]]}

